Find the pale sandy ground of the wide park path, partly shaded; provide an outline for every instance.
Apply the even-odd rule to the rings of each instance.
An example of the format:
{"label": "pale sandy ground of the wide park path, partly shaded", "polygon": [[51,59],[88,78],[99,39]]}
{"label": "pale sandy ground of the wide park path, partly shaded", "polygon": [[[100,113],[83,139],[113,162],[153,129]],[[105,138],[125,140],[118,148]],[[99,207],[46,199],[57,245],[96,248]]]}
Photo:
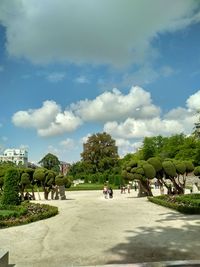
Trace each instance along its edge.
{"label": "pale sandy ground of the wide park path, partly shaded", "polygon": [[[154,190],[158,194],[159,189]],[[0,230],[0,248],[16,267],[66,267],[199,260],[200,216],[157,206],[136,192],[113,199],[101,191],[67,192],[40,201],[59,215]]]}

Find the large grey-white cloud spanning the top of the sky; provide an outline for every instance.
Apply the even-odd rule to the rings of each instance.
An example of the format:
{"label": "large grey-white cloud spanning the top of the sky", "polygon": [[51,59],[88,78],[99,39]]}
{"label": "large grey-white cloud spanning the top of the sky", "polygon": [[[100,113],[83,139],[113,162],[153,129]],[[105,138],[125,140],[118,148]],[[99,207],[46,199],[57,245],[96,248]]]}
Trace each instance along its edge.
{"label": "large grey-white cloud spanning the top of the sky", "polygon": [[193,0],[152,0],[151,5],[146,0],[1,0],[0,21],[12,56],[42,64],[121,66],[151,57],[158,34],[199,21],[197,5]]}

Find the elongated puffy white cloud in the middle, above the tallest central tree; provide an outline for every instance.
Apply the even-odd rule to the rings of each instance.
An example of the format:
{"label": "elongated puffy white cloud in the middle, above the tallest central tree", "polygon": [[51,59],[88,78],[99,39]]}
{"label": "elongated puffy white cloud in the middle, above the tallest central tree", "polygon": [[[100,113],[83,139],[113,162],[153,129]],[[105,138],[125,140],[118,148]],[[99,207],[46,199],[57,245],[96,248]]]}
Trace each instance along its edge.
{"label": "elongated puffy white cloud in the middle, above the tallest central tree", "polygon": [[106,122],[127,117],[155,117],[159,115],[160,109],[151,102],[150,93],[135,86],[127,95],[113,89],[112,92],[104,92],[94,100],[83,100],[72,104],[71,109],[84,121]]}

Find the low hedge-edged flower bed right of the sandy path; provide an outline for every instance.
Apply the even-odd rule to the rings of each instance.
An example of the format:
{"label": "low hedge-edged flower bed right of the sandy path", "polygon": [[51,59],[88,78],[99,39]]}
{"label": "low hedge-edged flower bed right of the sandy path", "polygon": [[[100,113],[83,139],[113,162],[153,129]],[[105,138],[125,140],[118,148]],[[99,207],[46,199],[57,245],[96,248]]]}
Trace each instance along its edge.
{"label": "low hedge-edged flower bed right of the sandy path", "polygon": [[162,195],[148,197],[148,200],[185,214],[200,214],[200,194],[178,196]]}

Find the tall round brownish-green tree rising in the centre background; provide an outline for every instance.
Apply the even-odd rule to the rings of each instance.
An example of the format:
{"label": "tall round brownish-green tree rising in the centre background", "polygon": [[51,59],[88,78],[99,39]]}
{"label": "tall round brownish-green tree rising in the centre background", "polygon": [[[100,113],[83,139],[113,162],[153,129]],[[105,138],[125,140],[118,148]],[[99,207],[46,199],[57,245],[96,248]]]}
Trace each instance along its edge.
{"label": "tall round brownish-green tree rising in the centre background", "polygon": [[92,172],[104,172],[116,165],[118,151],[115,140],[107,133],[90,136],[83,145],[82,161],[93,167]]}

